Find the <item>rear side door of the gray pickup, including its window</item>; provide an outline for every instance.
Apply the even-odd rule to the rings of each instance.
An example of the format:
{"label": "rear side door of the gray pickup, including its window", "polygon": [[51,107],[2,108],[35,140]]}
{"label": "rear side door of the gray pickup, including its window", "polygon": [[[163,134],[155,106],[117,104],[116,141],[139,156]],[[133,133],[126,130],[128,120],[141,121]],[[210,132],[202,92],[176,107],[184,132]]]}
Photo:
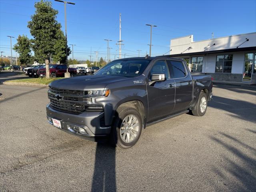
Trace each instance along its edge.
{"label": "rear side door of the gray pickup, including its window", "polygon": [[188,109],[192,101],[192,77],[186,70],[184,62],[179,60],[167,60],[167,63],[176,87],[174,112]]}

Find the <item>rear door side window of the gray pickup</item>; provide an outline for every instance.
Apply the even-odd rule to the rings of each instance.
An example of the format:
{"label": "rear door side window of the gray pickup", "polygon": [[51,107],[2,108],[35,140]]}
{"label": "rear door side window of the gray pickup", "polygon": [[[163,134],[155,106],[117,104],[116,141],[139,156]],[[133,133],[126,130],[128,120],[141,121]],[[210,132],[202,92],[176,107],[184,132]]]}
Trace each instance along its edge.
{"label": "rear door side window of the gray pickup", "polygon": [[184,65],[180,61],[168,61],[168,68],[172,78],[182,78],[186,76]]}

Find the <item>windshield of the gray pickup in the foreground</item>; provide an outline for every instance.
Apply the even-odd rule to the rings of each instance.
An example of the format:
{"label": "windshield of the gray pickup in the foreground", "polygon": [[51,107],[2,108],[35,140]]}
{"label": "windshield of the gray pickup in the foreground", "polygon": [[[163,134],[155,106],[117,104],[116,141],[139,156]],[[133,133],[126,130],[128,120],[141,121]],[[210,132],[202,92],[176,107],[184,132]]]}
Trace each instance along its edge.
{"label": "windshield of the gray pickup in the foreground", "polygon": [[98,70],[95,75],[114,75],[124,77],[140,76],[150,60],[118,60],[113,61]]}

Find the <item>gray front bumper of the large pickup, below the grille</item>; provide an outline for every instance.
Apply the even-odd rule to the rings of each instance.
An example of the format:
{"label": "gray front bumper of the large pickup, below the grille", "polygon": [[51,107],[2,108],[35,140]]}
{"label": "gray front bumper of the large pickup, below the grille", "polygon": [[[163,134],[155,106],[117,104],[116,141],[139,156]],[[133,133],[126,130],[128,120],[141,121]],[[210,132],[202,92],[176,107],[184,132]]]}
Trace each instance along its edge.
{"label": "gray front bumper of the large pickup, below the grille", "polygon": [[[46,106],[47,119],[50,124],[51,119],[60,120],[61,129],[78,136],[86,137],[90,140],[96,140],[96,138],[102,138],[110,134],[111,126],[101,127],[100,118],[104,118],[104,112],[83,112],[82,114],[69,114],[54,110],[50,104]],[[82,127],[86,130],[86,134],[72,131],[71,126]]]}

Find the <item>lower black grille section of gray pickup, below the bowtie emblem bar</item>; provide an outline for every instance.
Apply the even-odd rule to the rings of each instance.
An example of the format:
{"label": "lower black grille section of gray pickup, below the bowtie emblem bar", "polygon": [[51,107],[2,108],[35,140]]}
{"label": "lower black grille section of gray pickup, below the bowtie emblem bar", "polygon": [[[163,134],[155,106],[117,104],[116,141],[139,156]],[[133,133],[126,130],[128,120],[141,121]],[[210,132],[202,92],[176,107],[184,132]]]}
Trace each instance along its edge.
{"label": "lower black grille section of gray pickup, below the bowtie emblem bar", "polygon": [[63,111],[63,112],[69,112],[74,114],[80,114],[84,111],[84,105],[78,104],[76,102],[66,102],[63,100],[53,100],[50,99],[52,108]]}

